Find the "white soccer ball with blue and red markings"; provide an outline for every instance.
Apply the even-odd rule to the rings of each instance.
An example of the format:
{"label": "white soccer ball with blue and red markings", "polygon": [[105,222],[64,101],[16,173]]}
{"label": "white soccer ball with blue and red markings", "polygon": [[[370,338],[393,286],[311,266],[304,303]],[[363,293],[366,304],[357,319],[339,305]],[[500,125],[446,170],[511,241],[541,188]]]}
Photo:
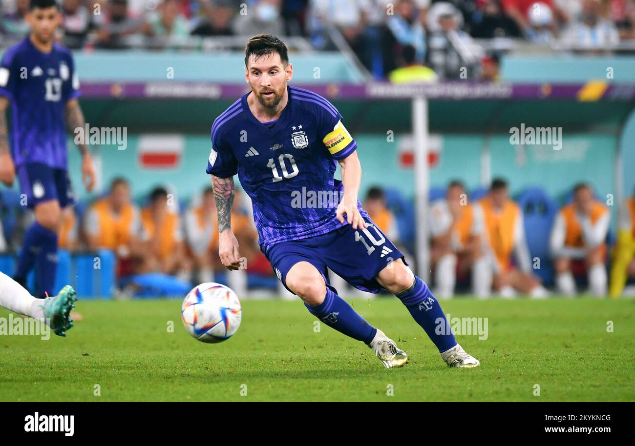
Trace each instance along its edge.
{"label": "white soccer ball with blue and red markings", "polygon": [[207,343],[231,338],[242,317],[243,310],[234,291],[213,282],[194,287],[181,306],[181,319],[187,332]]}

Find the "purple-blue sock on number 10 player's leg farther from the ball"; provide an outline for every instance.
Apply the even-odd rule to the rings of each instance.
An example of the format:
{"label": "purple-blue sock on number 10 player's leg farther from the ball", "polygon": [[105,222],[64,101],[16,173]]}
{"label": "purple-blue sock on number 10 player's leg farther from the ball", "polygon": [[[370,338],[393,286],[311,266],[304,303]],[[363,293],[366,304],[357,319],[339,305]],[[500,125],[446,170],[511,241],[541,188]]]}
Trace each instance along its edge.
{"label": "purple-blue sock on number 10 player's leg farther from the ball", "polygon": [[[397,297],[408,308],[417,324],[425,330],[440,353],[450,350],[457,344],[439,301],[432,296],[432,292],[423,280],[415,276],[415,285],[412,289],[399,293]],[[439,331],[443,334],[437,334],[436,327],[441,324],[443,324],[443,330]]]}

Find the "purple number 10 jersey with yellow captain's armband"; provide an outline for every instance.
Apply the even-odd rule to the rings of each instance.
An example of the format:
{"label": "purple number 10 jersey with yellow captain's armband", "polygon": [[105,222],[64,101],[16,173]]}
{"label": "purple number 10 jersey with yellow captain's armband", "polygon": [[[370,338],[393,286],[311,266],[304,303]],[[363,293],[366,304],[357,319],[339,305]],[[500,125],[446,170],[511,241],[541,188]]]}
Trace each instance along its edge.
{"label": "purple number 10 jersey with yellow captain's armband", "polygon": [[[307,239],[343,225],[335,214],[344,188],[333,174],[337,160],[357,147],[328,100],[291,86],[287,92],[286,107],[269,125],[251,114],[247,93],[211,128],[207,173],[220,178],[238,174],[251,197],[265,253],[279,242]],[[358,208],[368,216],[359,202]]]}

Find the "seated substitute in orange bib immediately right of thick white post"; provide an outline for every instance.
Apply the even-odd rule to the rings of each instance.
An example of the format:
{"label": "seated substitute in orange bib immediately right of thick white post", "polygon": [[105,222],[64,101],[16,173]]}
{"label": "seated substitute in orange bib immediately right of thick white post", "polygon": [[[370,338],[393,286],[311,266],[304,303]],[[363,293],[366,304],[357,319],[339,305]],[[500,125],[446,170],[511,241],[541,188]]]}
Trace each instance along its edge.
{"label": "seated substitute in orange bib immediately right of thick white post", "polygon": [[445,199],[432,204],[429,218],[435,295],[453,296],[458,265],[460,273],[472,270],[474,295],[489,296],[491,272],[483,249],[483,221],[476,218],[474,206],[468,203],[463,183],[451,181]]}

